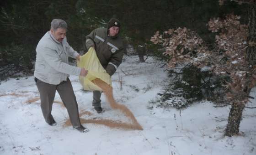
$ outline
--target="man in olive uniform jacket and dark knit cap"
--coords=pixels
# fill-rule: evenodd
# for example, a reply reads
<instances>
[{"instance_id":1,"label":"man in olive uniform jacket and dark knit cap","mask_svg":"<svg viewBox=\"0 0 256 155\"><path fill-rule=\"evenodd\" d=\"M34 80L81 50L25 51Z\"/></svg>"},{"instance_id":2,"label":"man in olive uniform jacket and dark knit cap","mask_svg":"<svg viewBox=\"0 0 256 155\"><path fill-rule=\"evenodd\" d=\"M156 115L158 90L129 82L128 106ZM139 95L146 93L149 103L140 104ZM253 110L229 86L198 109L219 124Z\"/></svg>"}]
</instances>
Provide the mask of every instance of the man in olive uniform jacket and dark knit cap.
<instances>
[{"instance_id":1,"label":"man in olive uniform jacket and dark knit cap","mask_svg":"<svg viewBox=\"0 0 256 155\"><path fill-rule=\"evenodd\" d=\"M97 28L86 36L86 47L94 47L102 67L112 76L123 59L123 40L118 36L120 32L120 21L110 19L106 28ZM92 105L97 113L102 112L101 92L93 91Z\"/></svg>"}]
</instances>

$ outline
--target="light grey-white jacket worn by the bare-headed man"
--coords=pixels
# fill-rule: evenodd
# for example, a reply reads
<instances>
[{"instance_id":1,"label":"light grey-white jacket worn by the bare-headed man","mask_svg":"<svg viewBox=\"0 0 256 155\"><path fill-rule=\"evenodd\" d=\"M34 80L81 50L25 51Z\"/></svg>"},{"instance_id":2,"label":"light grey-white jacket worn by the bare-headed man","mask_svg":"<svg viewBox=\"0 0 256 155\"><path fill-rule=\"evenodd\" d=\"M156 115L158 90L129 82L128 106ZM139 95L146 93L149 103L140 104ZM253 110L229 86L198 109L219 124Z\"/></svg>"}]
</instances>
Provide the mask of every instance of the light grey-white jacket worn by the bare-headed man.
<instances>
[{"instance_id":1,"label":"light grey-white jacket worn by the bare-headed man","mask_svg":"<svg viewBox=\"0 0 256 155\"><path fill-rule=\"evenodd\" d=\"M79 54L69 46L65 37L57 41L48 31L38 42L34 76L49 84L66 81L70 75L80 75L81 68L69 65L69 57L76 58Z\"/></svg>"}]
</instances>

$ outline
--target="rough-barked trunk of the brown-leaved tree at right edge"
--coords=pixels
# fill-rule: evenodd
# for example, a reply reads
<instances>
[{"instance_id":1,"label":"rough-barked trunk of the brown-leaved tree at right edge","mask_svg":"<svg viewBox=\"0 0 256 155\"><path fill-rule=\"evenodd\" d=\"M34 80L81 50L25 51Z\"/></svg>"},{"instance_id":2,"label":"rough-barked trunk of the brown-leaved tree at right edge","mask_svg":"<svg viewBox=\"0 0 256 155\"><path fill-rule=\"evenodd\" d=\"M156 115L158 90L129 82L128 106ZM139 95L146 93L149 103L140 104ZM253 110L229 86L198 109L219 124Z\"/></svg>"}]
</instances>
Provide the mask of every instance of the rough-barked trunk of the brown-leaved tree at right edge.
<instances>
[{"instance_id":1,"label":"rough-barked trunk of the brown-leaved tree at right edge","mask_svg":"<svg viewBox=\"0 0 256 155\"><path fill-rule=\"evenodd\" d=\"M247 74L247 82L245 83L244 92L249 96L251 92L251 76L253 75L253 68L256 65L256 3L252 2L249 6L249 36L248 43L254 42L246 49L246 59L249 62L250 69ZM242 119L242 113L245 108L244 103L233 103L229 112L228 124L225 129L226 136L232 136L239 134L239 125Z\"/></svg>"}]
</instances>

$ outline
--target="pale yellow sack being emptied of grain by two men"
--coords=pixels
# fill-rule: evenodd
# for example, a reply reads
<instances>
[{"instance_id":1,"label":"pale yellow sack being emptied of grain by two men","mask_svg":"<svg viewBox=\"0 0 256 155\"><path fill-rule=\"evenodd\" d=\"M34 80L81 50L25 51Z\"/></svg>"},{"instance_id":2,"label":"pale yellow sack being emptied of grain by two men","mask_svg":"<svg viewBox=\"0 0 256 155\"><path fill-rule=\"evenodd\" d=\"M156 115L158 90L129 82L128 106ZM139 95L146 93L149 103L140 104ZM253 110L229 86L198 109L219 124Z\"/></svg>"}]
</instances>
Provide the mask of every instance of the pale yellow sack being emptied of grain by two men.
<instances>
[{"instance_id":1,"label":"pale yellow sack being emptied of grain by two men","mask_svg":"<svg viewBox=\"0 0 256 155\"><path fill-rule=\"evenodd\" d=\"M80 61L77 61L78 67L83 67L88 70L86 77L79 76L80 83L82 84L84 90L99 90L102 91L92 80L99 78L105 83L112 86L112 81L110 75L101 66L101 63L96 55L95 49L90 47L89 51L85 55L80 57Z\"/></svg>"}]
</instances>

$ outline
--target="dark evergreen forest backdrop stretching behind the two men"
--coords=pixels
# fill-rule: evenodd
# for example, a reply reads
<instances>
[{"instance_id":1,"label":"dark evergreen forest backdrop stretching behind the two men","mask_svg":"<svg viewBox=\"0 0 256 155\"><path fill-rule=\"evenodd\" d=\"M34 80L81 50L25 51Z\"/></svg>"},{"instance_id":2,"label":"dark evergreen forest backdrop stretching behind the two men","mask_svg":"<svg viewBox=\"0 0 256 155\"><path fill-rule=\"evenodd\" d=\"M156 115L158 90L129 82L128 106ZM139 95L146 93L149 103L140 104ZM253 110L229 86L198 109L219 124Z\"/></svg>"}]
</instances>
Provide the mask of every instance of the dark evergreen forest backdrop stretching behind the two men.
<instances>
[{"instance_id":1,"label":"dark evergreen forest backdrop stretching behind the two men","mask_svg":"<svg viewBox=\"0 0 256 155\"><path fill-rule=\"evenodd\" d=\"M67 21L69 44L80 52L87 50L86 35L116 17L122 22L120 35L129 38L128 44L136 49L146 43L146 54L154 53L166 59L161 51L148 44L155 31L187 27L211 44L214 37L209 35L207 22L230 10L245 14L245 9L237 4L219 7L217 0L3 0L0 2L0 49L1 54L7 51L17 56L24 54L25 65L32 68L36 45L50 29L53 18ZM7 54L1 58L3 65L11 65L16 60Z\"/></svg>"}]
</instances>

